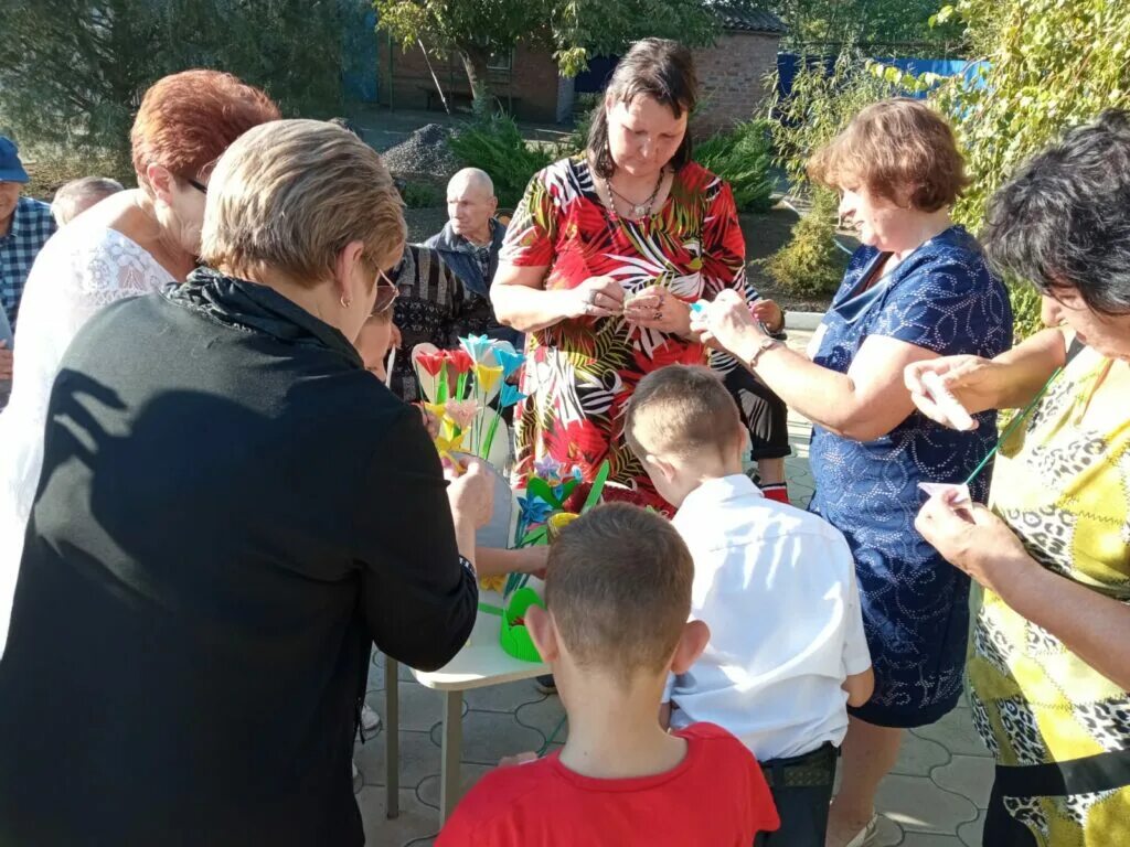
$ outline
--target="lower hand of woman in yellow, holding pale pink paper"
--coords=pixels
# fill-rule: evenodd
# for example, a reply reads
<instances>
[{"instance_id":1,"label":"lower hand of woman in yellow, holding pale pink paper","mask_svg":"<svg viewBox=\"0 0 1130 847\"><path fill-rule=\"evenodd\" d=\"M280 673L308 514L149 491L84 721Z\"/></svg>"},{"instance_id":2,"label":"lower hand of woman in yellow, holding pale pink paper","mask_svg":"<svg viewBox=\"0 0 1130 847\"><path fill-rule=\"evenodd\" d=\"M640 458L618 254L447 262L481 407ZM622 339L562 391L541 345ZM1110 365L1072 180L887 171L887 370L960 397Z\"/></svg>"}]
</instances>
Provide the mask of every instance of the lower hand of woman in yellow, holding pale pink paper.
<instances>
[{"instance_id":1,"label":"lower hand of woman in yellow, holding pale pink paper","mask_svg":"<svg viewBox=\"0 0 1130 847\"><path fill-rule=\"evenodd\" d=\"M1035 562L1003 521L981 504L953 504L953 492L935 495L914 521L951 565L989 591L1002 594Z\"/></svg>"}]
</instances>

